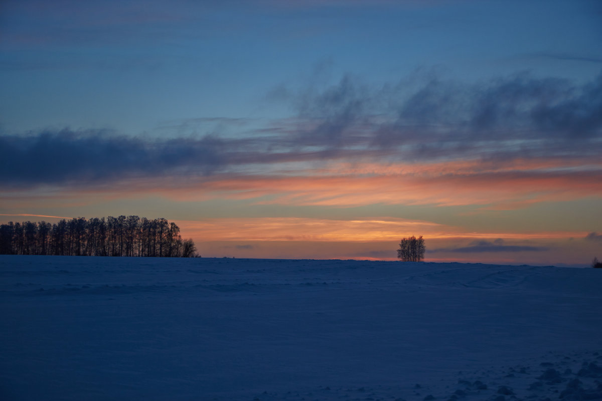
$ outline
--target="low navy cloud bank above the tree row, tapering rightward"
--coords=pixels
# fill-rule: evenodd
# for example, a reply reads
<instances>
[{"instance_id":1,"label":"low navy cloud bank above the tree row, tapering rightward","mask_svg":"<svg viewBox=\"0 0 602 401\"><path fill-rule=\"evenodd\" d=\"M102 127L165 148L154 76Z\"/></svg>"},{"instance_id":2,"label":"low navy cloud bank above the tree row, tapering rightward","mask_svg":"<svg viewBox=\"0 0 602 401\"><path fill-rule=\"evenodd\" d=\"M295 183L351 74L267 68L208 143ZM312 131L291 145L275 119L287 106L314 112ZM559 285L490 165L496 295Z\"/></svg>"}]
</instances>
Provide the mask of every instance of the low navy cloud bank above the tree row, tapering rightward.
<instances>
[{"instance_id":1,"label":"low navy cloud bank above the tree row, tapering rightward","mask_svg":"<svg viewBox=\"0 0 602 401\"><path fill-rule=\"evenodd\" d=\"M179 130L178 127L174 128ZM247 172L249 164L375 157L374 150L298 150L285 139L214 135L171 139L132 138L108 130L44 130L0 135L0 184L92 185L132 177L208 176Z\"/></svg>"}]
</instances>

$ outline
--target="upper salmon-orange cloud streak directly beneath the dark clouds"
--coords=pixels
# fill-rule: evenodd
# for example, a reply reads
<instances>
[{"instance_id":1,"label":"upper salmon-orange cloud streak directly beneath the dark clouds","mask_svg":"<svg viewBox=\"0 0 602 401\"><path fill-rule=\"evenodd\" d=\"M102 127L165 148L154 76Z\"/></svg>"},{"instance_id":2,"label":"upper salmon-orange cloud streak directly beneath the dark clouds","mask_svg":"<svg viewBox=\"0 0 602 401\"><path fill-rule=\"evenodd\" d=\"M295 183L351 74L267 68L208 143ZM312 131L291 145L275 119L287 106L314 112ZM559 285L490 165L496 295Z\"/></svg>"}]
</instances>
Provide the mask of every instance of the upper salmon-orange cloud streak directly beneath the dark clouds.
<instances>
[{"instance_id":1,"label":"upper salmon-orange cloud streak directly beneath the dark clouds","mask_svg":"<svg viewBox=\"0 0 602 401\"><path fill-rule=\"evenodd\" d=\"M216 198L255 204L353 207L368 204L492 205L514 209L544 201L602 196L602 173L387 174L320 176L220 176L164 182L165 189L134 184L132 195L155 193L178 201ZM138 183L140 185L140 183ZM123 195L123 194L120 194Z\"/></svg>"}]
</instances>

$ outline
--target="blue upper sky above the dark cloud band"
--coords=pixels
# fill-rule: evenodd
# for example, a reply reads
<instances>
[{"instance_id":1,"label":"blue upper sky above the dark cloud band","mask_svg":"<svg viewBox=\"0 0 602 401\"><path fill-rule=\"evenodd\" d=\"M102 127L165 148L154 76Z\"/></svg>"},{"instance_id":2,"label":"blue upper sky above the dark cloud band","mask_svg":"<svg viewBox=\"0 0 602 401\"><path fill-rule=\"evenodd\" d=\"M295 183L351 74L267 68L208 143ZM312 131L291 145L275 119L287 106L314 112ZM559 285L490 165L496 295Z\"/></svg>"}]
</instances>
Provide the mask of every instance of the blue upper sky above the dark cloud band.
<instances>
[{"instance_id":1,"label":"blue upper sky above the dark cloud band","mask_svg":"<svg viewBox=\"0 0 602 401\"><path fill-rule=\"evenodd\" d=\"M290 3L290 4L288 4ZM5 2L2 123L127 135L196 117L272 118L270 88L351 73L474 82L600 72L600 5L528 2ZM32 112L35 109L36 112Z\"/></svg>"}]
</instances>

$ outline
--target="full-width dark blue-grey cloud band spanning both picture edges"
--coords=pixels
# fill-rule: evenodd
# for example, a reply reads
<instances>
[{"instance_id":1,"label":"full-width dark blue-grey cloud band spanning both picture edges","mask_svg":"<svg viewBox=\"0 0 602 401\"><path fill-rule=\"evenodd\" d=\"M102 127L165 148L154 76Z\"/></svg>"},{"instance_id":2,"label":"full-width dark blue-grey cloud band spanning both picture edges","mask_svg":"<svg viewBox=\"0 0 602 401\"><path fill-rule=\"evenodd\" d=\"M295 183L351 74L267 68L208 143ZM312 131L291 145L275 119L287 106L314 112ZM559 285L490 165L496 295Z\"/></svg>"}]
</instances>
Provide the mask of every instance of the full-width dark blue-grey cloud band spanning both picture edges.
<instances>
[{"instance_id":1,"label":"full-width dark blue-grey cloud band spanning both picture edges","mask_svg":"<svg viewBox=\"0 0 602 401\"><path fill-rule=\"evenodd\" d=\"M517 159L539 159L561 170L569 161L569 173L600 173L602 75L580 86L520 74L479 85L430 78L379 88L346 76L326 88L280 92L295 118L253 129L237 121L241 132L223 138L184 138L178 124L173 133L162 132L170 139L70 129L0 135L0 183L87 185L335 160L470 159L511 166Z\"/></svg>"}]
</instances>

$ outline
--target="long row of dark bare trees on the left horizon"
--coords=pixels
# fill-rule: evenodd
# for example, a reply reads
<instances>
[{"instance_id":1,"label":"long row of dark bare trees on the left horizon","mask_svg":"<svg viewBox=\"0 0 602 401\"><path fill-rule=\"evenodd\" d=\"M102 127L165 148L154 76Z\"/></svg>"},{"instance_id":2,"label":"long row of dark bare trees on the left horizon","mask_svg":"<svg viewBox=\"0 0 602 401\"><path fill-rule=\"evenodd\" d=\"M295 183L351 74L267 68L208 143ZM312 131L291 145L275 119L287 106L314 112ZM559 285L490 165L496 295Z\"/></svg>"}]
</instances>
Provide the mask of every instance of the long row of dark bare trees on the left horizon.
<instances>
[{"instance_id":1,"label":"long row of dark bare trees on the left horizon","mask_svg":"<svg viewBox=\"0 0 602 401\"><path fill-rule=\"evenodd\" d=\"M164 218L108 216L0 225L0 254L63 256L192 257L192 239Z\"/></svg>"}]
</instances>

